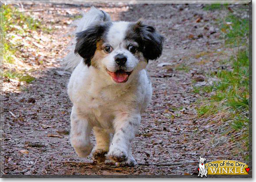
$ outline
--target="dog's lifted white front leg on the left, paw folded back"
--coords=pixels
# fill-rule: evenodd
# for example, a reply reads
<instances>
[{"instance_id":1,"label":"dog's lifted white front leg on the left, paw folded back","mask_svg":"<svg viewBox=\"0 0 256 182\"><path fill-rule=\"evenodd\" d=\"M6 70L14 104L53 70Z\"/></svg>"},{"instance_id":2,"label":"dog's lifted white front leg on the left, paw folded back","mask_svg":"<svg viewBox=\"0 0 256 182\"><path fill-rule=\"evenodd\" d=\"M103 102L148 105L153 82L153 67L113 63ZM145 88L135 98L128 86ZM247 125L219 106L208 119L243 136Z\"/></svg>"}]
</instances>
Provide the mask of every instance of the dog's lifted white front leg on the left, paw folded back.
<instances>
[{"instance_id":1,"label":"dog's lifted white front leg on the left, paw folded back","mask_svg":"<svg viewBox=\"0 0 256 182\"><path fill-rule=\"evenodd\" d=\"M87 157L92 150L90 134L92 127L88 120L78 118L76 109L72 107L71 112L70 142L79 157Z\"/></svg>"}]
</instances>

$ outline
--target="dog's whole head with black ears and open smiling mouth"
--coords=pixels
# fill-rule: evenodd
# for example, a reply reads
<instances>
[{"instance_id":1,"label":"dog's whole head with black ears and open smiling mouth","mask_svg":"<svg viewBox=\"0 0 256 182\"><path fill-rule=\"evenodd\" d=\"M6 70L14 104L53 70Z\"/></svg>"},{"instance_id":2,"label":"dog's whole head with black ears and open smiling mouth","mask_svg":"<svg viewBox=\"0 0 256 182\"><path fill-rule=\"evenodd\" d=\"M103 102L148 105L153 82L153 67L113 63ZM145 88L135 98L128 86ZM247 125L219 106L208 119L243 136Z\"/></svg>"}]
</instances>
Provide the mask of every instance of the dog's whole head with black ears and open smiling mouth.
<instances>
[{"instance_id":1,"label":"dog's whole head with black ears and open smiling mouth","mask_svg":"<svg viewBox=\"0 0 256 182\"><path fill-rule=\"evenodd\" d=\"M115 83L126 82L162 53L163 36L140 21L105 22L77 34L75 53Z\"/></svg>"}]
</instances>

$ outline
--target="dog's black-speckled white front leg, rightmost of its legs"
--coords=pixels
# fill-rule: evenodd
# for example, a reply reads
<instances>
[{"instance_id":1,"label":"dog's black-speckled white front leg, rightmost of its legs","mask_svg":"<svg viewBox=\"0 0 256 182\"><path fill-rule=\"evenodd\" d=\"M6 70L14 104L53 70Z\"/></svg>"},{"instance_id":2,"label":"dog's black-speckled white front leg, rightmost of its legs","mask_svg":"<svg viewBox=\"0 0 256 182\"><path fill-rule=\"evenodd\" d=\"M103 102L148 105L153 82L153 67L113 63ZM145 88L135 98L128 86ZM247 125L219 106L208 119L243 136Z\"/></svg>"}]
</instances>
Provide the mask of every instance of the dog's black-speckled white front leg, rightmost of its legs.
<instances>
[{"instance_id":1,"label":"dog's black-speckled white front leg, rightmost of its legs","mask_svg":"<svg viewBox=\"0 0 256 182\"><path fill-rule=\"evenodd\" d=\"M113 121L114 136L109 147L108 158L129 166L136 163L132 157L130 143L132 142L135 132L141 121L139 114L120 114Z\"/></svg>"}]
</instances>

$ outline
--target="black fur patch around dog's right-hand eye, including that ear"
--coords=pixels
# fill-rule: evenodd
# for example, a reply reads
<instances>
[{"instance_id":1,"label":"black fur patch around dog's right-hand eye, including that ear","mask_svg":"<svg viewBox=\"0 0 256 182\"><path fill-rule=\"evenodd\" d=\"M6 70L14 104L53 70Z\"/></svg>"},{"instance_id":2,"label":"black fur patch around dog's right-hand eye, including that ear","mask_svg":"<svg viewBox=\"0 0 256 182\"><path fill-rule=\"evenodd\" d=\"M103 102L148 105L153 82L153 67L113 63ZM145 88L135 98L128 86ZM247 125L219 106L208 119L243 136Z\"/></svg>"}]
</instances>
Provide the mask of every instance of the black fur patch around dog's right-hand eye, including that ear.
<instances>
[{"instance_id":1,"label":"black fur patch around dog's right-hand eye, including that ear","mask_svg":"<svg viewBox=\"0 0 256 182\"><path fill-rule=\"evenodd\" d=\"M154 60L160 57L163 50L163 36L154 27L144 25L140 21L130 25L126 33L127 40L134 40L139 44L139 51L144 58Z\"/></svg>"}]
</instances>

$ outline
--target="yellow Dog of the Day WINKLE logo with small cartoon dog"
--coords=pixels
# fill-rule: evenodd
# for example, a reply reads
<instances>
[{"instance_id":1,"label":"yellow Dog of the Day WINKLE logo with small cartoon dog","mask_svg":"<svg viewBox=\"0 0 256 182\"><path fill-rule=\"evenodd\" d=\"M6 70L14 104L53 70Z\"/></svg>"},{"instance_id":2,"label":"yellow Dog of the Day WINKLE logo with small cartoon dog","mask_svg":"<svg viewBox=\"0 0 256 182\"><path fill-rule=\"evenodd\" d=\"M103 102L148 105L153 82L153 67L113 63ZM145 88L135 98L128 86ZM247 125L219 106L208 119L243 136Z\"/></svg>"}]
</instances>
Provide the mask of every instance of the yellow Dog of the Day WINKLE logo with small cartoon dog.
<instances>
[{"instance_id":1,"label":"yellow Dog of the Day WINKLE logo with small cartoon dog","mask_svg":"<svg viewBox=\"0 0 256 182\"><path fill-rule=\"evenodd\" d=\"M207 175L248 175L250 168L243 162L234 160L217 160L204 164L206 158L200 157L198 177Z\"/></svg>"}]
</instances>

